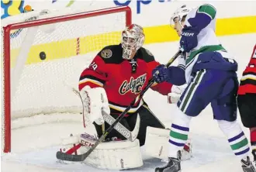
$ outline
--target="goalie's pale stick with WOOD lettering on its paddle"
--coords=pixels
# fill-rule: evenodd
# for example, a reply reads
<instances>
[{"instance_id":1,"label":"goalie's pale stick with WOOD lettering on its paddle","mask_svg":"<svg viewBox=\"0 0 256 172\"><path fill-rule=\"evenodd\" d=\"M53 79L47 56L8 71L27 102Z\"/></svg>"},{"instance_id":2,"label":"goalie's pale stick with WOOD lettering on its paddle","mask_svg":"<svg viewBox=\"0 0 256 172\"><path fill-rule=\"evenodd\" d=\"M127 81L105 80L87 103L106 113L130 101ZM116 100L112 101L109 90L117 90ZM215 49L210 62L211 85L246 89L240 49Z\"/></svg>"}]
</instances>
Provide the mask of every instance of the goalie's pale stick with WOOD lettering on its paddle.
<instances>
[{"instance_id":1,"label":"goalie's pale stick with WOOD lettering on its paddle","mask_svg":"<svg viewBox=\"0 0 256 172\"><path fill-rule=\"evenodd\" d=\"M72 91L74 92L74 94L78 95L78 97L81 99L81 95L80 95L80 93L79 93L79 91L77 89L71 87L70 85L68 85L65 82L64 82L64 85L66 85L68 88L71 88ZM81 103L83 104L83 101L81 101ZM84 108L84 105L83 105L83 108ZM83 110L83 113L84 112L85 111ZM114 123L115 120L116 120L111 115L106 113L105 111L102 111L102 116L103 116L104 121L107 122L109 124L109 126L111 126L112 123ZM85 118L84 114L83 114L83 117ZM84 122L85 122L85 119L84 119ZM117 122L117 124L114 127L114 129L116 129L116 131L119 132L126 139L129 139L131 142L133 142L135 139L137 139L137 136L138 136L138 133L139 133L139 130L140 130L140 115L137 115L137 121L136 121L136 124L134 126L133 131L130 131L129 129L126 129L126 127L123 126L120 122Z\"/></svg>"}]
</instances>

